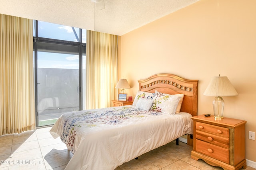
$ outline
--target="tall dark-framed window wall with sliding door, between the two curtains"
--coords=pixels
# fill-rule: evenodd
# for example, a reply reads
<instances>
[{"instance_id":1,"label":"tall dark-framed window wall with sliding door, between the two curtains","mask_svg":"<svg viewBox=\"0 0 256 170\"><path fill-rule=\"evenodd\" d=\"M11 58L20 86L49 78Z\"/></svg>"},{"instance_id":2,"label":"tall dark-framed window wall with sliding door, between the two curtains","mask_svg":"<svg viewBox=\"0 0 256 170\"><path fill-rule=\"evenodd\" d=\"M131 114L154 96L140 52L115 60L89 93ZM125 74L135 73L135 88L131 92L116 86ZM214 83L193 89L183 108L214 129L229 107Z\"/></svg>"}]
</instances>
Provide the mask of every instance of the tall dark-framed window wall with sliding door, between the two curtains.
<instances>
[{"instance_id":1,"label":"tall dark-framed window wall with sliding door, between the two curtains","mask_svg":"<svg viewBox=\"0 0 256 170\"><path fill-rule=\"evenodd\" d=\"M86 29L33 22L36 123L84 109Z\"/></svg>"}]
</instances>

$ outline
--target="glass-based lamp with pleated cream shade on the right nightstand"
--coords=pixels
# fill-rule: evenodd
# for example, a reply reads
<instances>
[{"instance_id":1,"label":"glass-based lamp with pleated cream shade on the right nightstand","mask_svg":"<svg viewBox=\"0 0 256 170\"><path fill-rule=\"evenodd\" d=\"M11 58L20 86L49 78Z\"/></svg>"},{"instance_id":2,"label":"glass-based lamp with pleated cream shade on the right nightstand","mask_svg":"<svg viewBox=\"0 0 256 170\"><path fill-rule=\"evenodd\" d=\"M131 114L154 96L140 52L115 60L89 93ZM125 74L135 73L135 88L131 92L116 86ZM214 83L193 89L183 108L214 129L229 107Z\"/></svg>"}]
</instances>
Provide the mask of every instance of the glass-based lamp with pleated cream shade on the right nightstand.
<instances>
[{"instance_id":1,"label":"glass-based lamp with pleated cream shade on the right nightstand","mask_svg":"<svg viewBox=\"0 0 256 170\"><path fill-rule=\"evenodd\" d=\"M204 95L217 96L212 102L214 119L223 119L224 100L220 96L236 96L238 93L228 80L228 77L218 76L212 78L204 92Z\"/></svg>"}]
</instances>

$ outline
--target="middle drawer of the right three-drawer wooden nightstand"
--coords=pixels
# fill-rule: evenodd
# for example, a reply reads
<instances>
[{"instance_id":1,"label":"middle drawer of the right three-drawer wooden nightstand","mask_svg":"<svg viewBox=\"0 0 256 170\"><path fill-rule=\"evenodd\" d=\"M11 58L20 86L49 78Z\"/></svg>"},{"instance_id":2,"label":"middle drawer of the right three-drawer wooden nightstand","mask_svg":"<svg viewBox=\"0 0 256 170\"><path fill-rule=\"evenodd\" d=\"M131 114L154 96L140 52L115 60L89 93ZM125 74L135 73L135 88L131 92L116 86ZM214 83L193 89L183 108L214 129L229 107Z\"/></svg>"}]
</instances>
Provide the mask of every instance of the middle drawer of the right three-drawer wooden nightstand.
<instances>
[{"instance_id":1,"label":"middle drawer of the right three-drawer wooden nightstand","mask_svg":"<svg viewBox=\"0 0 256 170\"><path fill-rule=\"evenodd\" d=\"M206 141L208 143L218 145L220 147L229 148L229 138L213 135L211 133L206 133L204 131L196 130L196 139Z\"/></svg>"}]
</instances>

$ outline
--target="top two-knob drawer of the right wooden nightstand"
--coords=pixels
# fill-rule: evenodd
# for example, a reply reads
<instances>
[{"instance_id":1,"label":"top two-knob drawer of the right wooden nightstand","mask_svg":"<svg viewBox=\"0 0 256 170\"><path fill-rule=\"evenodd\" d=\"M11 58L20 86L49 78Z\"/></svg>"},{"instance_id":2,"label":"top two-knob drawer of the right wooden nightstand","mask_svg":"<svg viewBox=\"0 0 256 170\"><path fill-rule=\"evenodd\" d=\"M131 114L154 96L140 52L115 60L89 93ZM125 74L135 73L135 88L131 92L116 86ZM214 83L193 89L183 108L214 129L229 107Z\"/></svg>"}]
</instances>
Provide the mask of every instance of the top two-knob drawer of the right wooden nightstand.
<instances>
[{"instance_id":1,"label":"top two-knob drawer of the right wooden nightstand","mask_svg":"<svg viewBox=\"0 0 256 170\"><path fill-rule=\"evenodd\" d=\"M229 129L225 127L219 127L206 123L196 122L196 130L213 133L223 137L229 137Z\"/></svg>"}]
</instances>

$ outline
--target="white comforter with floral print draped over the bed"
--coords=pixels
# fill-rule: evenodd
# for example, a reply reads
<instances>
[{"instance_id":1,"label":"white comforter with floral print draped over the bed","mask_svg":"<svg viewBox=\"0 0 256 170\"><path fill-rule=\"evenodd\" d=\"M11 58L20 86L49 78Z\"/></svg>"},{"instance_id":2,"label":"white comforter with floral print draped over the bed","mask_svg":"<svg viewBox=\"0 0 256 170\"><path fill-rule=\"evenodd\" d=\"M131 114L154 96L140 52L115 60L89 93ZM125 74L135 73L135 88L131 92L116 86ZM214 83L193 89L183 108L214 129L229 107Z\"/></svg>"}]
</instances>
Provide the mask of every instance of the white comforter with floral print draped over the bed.
<instances>
[{"instance_id":1,"label":"white comforter with floral print draped over the bed","mask_svg":"<svg viewBox=\"0 0 256 170\"><path fill-rule=\"evenodd\" d=\"M150 150L192 134L189 113L163 114L134 106L65 113L50 133L74 154L66 170L113 170Z\"/></svg>"}]
</instances>

